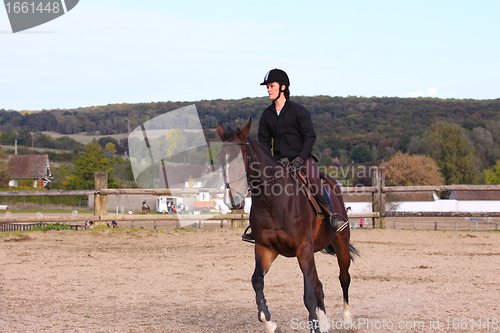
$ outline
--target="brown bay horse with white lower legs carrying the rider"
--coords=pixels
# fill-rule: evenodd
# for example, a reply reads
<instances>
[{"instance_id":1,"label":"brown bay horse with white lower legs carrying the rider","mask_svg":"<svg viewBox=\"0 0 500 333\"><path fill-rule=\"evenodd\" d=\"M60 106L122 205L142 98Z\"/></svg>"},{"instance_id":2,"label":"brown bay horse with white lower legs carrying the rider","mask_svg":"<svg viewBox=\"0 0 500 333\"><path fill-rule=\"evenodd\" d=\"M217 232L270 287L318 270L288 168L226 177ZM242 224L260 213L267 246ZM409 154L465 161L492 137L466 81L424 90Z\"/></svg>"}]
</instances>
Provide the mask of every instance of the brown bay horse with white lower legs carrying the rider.
<instances>
[{"instance_id":1,"label":"brown bay horse with white lower legs carrying the rider","mask_svg":"<svg viewBox=\"0 0 500 333\"><path fill-rule=\"evenodd\" d=\"M304 276L304 304L309 312L311 332L326 332L330 327L325 314L323 287L318 279L314 253L323 250L336 254L344 297L344 322L351 319L348 289L351 256L357 250L349 244L350 230L336 234L326 219L317 222L317 213L307 195L298 189L290 170L276 162L266 149L249 137L252 119L240 131L226 130L219 123L223 141L220 154L226 183L225 202L241 208L247 193L252 194L250 226L255 236L255 270L252 285L256 294L258 319L266 332L281 332L271 321L264 298L264 275L281 254L297 257ZM239 162L239 163L238 163ZM339 219L347 221L340 188L331 177L322 174L325 188Z\"/></svg>"}]
</instances>

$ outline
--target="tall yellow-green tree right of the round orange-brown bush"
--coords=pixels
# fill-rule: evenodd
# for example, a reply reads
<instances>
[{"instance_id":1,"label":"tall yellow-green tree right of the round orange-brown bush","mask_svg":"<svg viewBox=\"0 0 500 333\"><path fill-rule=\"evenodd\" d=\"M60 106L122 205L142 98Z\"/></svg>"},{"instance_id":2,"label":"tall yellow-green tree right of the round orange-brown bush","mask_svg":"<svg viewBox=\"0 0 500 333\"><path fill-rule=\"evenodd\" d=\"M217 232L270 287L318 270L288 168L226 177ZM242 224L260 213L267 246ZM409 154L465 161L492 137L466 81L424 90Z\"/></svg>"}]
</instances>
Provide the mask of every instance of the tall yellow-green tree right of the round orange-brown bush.
<instances>
[{"instance_id":1,"label":"tall yellow-green tree right of the round orange-brown bush","mask_svg":"<svg viewBox=\"0 0 500 333\"><path fill-rule=\"evenodd\" d=\"M436 147L433 157L445 184L474 184L477 176L472 162L473 150L462 128L455 124L438 125L431 137Z\"/></svg>"}]
</instances>

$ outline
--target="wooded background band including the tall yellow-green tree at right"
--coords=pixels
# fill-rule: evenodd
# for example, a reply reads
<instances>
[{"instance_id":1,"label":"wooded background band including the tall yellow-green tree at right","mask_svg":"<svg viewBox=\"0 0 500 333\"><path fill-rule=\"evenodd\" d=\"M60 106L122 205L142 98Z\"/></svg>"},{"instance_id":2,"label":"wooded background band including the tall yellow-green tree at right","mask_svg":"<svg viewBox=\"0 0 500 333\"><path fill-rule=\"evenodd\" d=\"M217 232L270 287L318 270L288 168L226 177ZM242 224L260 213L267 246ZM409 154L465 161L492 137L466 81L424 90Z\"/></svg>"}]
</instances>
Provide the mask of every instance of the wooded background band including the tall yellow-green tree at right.
<instances>
[{"instance_id":1,"label":"wooded background band including the tall yellow-green tree at right","mask_svg":"<svg viewBox=\"0 0 500 333\"><path fill-rule=\"evenodd\" d=\"M422 155L436 163L447 184L485 183L492 179L491 172L500 160L500 99L292 96L292 100L311 112L317 132L314 153L323 166L378 165L398 153ZM127 133L149 119L190 104L196 105L206 139L211 140L216 133L209 129L216 128L219 121L234 128L252 117L257 124L269 100L110 104L30 113L2 109L0 143L12 144L15 135L30 146L31 133L35 132L40 138L35 146L67 147L58 149L78 154L83 145L69 138L51 141L41 132ZM257 127L251 131L254 137ZM128 149L127 140L112 143L117 150Z\"/></svg>"}]
</instances>

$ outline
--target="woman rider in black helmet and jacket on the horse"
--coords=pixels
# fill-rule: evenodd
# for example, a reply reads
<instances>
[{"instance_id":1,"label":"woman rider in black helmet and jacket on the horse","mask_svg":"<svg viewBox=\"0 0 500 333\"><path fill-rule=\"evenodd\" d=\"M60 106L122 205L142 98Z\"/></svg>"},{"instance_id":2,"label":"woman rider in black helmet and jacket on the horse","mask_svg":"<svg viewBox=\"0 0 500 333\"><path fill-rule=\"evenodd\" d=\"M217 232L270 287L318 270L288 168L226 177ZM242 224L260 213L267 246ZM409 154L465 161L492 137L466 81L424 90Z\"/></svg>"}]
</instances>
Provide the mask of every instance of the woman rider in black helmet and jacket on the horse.
<instances>
[{"instance_id":1,"label":"woman rider in black helmet and jacket on the horse","mask_svg":"<svg viewBox=\"0 0 500 333\"><path fill-rule=\"evenodd\" d=\"M267 72L261 86L267 87L269 99L273 103L268 106L260 118L259 142L272 151L276 160L290 162L294 170L305 169L311 182L311 190L316 198L333 212L328 192L323 189L319 178L318 166L312 156L316 133L311 121L311 114L305 107L290 100L290 80L281 69ZM342 231L348 222L339 221L330 216L330 224L335 232ZM253 241L251 233L243 234L243 240Z\"/></svg>"}]
</instances>

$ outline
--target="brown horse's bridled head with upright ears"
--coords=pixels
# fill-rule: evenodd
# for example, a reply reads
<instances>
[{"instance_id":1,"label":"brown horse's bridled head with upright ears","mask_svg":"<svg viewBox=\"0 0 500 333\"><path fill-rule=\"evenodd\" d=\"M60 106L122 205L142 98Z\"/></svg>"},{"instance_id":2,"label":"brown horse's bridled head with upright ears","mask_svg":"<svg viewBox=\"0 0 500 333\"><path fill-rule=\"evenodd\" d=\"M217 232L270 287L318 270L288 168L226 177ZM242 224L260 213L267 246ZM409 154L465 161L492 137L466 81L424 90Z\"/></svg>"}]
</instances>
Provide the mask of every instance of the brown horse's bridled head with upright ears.
<instances>
[{"instance_id":1,"label":"brown horse's bridled head with upright ears","mask_svg":"<svg viewBox=\"0 0 500 333\"><path fill-rule=\"evenodd\" d=\"M248 192L248 135L251 126L252 118L241 130L226 130L221 123L217 127L217 133L222 140L219 160L226 187L224 203L232 209L243 209L245 206L245 197Z\"/></svg>"}]
</instances>

